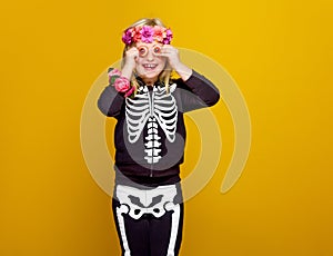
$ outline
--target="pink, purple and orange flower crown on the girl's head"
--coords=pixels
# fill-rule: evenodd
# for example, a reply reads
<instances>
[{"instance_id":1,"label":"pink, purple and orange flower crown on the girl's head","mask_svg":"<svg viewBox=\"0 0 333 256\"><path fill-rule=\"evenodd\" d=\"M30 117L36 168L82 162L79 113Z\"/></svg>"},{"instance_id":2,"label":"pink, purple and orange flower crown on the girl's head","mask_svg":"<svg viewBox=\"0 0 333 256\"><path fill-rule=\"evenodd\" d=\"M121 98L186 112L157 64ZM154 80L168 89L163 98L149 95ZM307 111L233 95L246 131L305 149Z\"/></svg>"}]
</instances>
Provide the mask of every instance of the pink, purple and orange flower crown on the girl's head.
<instances>
[{"instance_id":1,"label":"pink, purple and orange flower crown on the girl's head","mask_svg":"<svg viewBox=\"0 0 333 256\"><path fill-rule=\"evenodd\" d=\"M122 41L130 46L133 42L161 42L163 45L170 45L173 35L170 29L161 26L137 26L127 29L122 35Z\"/></svg>"}]
</instances>

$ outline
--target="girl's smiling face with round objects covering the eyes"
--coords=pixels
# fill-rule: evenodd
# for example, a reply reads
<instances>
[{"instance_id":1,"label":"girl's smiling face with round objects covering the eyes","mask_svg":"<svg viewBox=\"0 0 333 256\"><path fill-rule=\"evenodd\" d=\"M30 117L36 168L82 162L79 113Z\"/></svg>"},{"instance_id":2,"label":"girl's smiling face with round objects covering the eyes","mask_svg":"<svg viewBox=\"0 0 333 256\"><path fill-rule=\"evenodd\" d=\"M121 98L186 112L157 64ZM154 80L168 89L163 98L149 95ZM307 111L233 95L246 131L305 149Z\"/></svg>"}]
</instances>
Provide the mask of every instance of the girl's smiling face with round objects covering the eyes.
<instances>
[{"instance_id":1,"label":"girl's smiling face with round objects covering the eyes","mask_svg":"<svg viewBox=\"0 0 333 256\"><path fill-rule=\"evenodd\" d=\"M161 43L152 42L138 42L137 49L139 57L137 59L137 73L145 82L155 82L159 75L164 70L167 58L160 57L159 53L162 49Z\"/></svg>"}]
</instances>

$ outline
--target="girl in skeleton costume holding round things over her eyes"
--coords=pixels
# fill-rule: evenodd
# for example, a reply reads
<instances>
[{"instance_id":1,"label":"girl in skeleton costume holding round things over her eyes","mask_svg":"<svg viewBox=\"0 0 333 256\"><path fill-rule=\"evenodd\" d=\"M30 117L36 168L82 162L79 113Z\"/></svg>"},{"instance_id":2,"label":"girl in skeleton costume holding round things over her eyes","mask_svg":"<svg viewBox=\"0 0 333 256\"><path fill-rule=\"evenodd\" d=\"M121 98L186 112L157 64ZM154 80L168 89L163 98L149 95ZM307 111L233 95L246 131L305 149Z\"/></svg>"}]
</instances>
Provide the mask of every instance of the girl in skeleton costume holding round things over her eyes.
<instances>
[{"instance_id":1,"label":"girl in skeleton costume holding round things over her eyes","mask_svg":"<svg viewBox=\"0 0 333 256\"><path fill-rule=\"evenodd\" d=\"M159 19L130 26L122 36L121 70L109 69L109 86L98 100L99 109L118 120L112 210L125 256L179 254L183 114L220 98L211 81L180 60L172 37Z\"/></svg>"}]
</instances>

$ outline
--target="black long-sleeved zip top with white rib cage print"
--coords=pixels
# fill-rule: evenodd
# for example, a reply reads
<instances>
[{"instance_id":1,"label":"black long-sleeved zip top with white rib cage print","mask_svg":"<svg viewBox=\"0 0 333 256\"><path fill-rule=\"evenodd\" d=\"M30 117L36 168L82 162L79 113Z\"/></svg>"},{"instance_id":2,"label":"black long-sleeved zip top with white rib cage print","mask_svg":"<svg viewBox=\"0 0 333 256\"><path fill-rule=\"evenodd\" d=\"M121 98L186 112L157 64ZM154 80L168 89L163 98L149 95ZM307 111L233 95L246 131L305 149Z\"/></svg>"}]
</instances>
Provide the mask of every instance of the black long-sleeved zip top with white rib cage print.
<instances>
[{"instance_id":1,"label":"black long-sleeved zip top with white rib cage print","mask_svg":"<svg viewBox=\"0 0 333 256\"><path fill-rule=\"evenodd\" d=\"M169 92L162 82L152 87L138 81L134 98L109 85L98 100L102 114L118 120L115 168L125 176L178 176L186 139L183 114L213 106L219 90L194 70L186 81L170 81Z\"/></svg>"}]
</instances>

